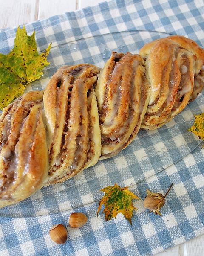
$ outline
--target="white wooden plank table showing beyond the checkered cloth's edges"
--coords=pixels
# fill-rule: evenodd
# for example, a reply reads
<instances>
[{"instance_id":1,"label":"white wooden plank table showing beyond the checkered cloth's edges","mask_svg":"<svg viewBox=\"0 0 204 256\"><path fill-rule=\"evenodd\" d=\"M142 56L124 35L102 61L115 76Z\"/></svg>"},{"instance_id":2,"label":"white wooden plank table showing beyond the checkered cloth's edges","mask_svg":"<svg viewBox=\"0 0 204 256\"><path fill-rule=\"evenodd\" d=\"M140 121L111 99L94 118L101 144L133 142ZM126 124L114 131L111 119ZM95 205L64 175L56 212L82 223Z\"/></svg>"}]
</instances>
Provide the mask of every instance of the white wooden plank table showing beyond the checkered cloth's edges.
<instances>
[{"instance_id":1,"label":"white wooden plank table showing beyond the checkered cloth's edges","mask_svg":"<svg viewBox=\"0 0 204 256\"><path fill-rule=\"evenodd\" d=\"M0 0L0 29L96 5L103 0ZM157 256L204 256L204 235Z\"/></svg>"}]
</instances>

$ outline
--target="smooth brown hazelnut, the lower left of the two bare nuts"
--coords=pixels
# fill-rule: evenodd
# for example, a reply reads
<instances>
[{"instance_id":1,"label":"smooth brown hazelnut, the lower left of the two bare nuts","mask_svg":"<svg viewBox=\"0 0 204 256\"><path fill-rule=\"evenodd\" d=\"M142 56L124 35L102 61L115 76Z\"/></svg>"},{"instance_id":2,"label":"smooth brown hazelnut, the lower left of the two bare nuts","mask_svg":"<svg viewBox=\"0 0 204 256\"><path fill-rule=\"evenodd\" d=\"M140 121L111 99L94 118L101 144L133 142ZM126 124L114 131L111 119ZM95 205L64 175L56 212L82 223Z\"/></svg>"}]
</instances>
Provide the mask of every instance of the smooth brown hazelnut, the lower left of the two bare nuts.
<instances>
[{"instance_id":1,"label":"smooth brown hazelnut, the lower left of the two bare nuts","mask_svg":"<svg viewBox=\"0 0 204 256\"><path fill-rule=\"evenodd\" d=\"M62 224L57 224L50 229L51 239L57 244L64 244L67 241L67 230Z\"/></svg>"}]
</instances>

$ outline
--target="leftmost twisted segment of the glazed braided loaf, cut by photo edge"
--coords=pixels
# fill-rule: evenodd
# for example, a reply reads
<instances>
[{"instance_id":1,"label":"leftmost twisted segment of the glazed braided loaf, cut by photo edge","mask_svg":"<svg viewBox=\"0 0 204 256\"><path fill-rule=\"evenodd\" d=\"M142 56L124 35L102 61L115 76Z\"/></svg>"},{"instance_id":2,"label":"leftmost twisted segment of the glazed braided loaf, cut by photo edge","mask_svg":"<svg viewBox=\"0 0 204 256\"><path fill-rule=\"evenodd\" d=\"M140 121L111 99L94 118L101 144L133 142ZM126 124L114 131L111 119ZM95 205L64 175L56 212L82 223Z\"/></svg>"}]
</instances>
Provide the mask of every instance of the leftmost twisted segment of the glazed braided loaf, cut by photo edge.
<instances>
[{"instance_id":1,"label":"leftmost twisted segment of the glazed braided loaf, cut by photo edge","mask_svg":"<svg viewBox=\"0 0 204 256\"><path fill-rule=\"evenodd\" d=\"M28 198L48 179L43 91L20 96L0 117L0 208Z\"/></svg>"}]
</instances>

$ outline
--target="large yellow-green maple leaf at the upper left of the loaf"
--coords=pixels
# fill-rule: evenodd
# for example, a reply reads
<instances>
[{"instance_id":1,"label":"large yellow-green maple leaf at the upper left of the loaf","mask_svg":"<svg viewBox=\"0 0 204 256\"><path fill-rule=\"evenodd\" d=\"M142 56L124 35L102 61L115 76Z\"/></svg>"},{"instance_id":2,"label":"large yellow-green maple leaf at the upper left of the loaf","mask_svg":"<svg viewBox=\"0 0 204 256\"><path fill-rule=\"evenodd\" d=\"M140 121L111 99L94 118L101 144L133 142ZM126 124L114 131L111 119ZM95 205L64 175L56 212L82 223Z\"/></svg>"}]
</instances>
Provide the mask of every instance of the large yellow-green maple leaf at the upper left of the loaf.
<instances>
[{"instance_id":1,"label":"large yellow-green maple leaf at the upper left of the loaf","mask_svg":"<svg viewBox=\"0 0 204 256\"><path fill-rule=\"evenodd\" d=\"M0 53L0 108L23 94L28 83L40 78L48 66L47 56L51 44L40 55L37 52L35 32L27 35L26 27L17 28L14 48L4 55Z\"/></svg>"}]
</instances>

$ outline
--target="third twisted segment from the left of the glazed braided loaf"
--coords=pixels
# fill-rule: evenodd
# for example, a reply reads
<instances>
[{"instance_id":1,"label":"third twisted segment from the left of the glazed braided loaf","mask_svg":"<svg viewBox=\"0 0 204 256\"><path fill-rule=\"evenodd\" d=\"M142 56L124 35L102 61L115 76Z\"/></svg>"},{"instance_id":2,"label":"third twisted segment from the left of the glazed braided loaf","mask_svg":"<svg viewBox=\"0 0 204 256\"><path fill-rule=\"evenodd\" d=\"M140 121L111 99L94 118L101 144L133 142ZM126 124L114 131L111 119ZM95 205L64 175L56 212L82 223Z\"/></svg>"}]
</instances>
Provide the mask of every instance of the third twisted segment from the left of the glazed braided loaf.
<instances>
[{"instance_id":1,"label":"third twisted segment from the left of the glazed braided loaf","mask_svg":"<svg viewBox=\"0 0 204 256\"><path fill-rule=\"evenodd\" d=\"M138 133L149 102L144 61L113 52L96 86L102 136L101 159L113 157Z\"/></svg>"}]
</instances>

